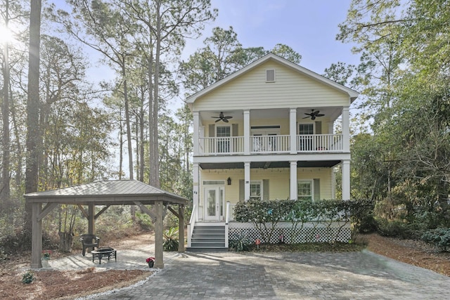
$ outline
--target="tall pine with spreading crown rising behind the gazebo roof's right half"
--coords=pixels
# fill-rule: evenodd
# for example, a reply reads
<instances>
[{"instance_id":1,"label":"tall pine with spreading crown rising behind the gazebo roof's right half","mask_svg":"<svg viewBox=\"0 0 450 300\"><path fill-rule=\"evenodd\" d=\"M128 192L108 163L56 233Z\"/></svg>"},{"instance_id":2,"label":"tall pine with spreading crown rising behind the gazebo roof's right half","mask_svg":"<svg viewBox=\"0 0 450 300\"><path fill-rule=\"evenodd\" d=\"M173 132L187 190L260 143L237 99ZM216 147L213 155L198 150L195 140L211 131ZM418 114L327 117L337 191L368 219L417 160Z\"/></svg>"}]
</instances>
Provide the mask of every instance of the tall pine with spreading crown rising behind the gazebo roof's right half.
<instances>
[{"instance_id":1,"label":"tall pine with spreading crown rising behind the gazebo roof's right half","mask_svg":"<svg viewBox=\"0 0 450 300\"><path fill-rule=\"evenodd\" d=\"M149 182L159 187L158 112L160 101L160 71L162 59L178 53L186 37L197 37L203 23L213 20L217 11L210 11L210 0L188 1L120 1L135 20L142 22L146 32L149 93ZM164 52L163 52L164 51Z\"/></svg>"}]
</instances>

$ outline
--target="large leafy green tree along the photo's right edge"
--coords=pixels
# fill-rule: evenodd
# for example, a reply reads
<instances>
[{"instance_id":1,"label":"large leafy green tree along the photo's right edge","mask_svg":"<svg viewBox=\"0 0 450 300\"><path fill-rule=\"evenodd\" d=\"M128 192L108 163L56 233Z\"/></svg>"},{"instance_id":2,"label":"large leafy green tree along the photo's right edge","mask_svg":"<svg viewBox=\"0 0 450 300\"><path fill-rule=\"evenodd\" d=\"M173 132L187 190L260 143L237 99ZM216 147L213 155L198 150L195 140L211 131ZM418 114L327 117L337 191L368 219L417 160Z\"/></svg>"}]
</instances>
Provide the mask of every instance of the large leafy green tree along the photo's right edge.
<instances>
[{"instance_id":1,"label":"large leafy green tree along the photo's right edge","mask_svg":"<svg viewBox=\"0 0 450 300\"><path fill-rule=\"evenodd\" d=\"M373 178L386 187L387 195L379 193L391 213L401 205L411 221L420 207L439 203L434 226L445 226L449 216L449 18L445 0L354 0L338 34L361 53L357 80L374 121L361 157L383 157L385 167ZM366 168L354 166L359 173Z\"/></svg>"}]
</instances>

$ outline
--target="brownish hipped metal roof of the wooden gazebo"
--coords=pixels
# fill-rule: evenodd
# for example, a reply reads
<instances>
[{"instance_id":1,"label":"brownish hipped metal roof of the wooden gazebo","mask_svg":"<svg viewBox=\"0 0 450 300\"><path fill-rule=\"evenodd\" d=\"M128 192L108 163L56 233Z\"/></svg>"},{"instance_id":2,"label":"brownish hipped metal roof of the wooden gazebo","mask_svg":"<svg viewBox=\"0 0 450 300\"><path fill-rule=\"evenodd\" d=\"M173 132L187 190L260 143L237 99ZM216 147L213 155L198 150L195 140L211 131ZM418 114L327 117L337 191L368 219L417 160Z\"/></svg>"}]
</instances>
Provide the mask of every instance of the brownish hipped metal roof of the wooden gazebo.
<instances>
[{"instance_id":1,"label":"brownish hipped metal roof of the wooden gazebo","mask_svg":"<svg viewBox=\"0 0 450 300\"><path fill-rule=\"evenodd\" d=\"M134 201L164 202L186 204L188 200L165 190L155 188L136 180L96 181L60 188L25 194L27 202L63 202L81 204L91 202L94 204L134 204ZM120 202L120 203L117 203ZM131 203L125 203L131 202ZM144 203L145 204L145 203ZM152 203L148 203L152 204Z\"/></svg>"}]
</instances>

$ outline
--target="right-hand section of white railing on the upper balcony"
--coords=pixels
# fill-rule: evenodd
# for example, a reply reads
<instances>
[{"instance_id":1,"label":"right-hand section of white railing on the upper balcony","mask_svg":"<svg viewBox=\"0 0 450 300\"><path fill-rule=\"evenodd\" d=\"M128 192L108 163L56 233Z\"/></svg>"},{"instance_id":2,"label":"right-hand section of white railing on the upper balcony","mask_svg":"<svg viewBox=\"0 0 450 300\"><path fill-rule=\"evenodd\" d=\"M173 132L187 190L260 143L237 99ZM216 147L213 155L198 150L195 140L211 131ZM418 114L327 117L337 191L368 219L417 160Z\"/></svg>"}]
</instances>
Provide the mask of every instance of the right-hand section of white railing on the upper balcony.
<instances>
[{"instance_id":1,"label":"right-hand section of white railing on the upper balcony","mask_svg":"<svg viewBox=\"0 0 450 300\"><path fill-rule=\"evenodd\" d=\"M298 152L342 151L342 134L300 134L297 136Z\"/></svg>"}]
</instances>

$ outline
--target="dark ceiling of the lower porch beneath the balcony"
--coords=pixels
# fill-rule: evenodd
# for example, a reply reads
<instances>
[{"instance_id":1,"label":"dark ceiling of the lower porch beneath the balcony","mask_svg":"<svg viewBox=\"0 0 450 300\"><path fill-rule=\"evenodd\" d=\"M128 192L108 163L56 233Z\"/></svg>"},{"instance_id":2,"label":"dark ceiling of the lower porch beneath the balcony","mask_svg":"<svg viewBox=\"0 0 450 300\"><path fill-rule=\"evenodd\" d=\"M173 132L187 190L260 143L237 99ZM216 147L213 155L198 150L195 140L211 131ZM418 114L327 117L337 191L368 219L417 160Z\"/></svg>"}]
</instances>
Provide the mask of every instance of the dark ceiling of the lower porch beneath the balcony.
<instances>
[{"instance_id":1,"label":"dark ceiling of the lower porch beneath the balcony","mask_svg":"<svg viewBox=\"0 0 450 300\"><path fill-rule=\"evenodd\" d=\"M297 161L297 168L330 168L340 164L340 160ZM204 170L244 169L243 162L200 163ZM250 169L289 168L290 162L250 162Z\"/></svg>"}]
</instances>

